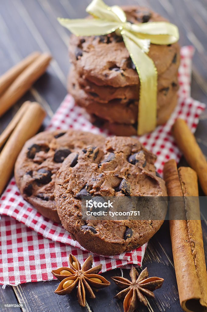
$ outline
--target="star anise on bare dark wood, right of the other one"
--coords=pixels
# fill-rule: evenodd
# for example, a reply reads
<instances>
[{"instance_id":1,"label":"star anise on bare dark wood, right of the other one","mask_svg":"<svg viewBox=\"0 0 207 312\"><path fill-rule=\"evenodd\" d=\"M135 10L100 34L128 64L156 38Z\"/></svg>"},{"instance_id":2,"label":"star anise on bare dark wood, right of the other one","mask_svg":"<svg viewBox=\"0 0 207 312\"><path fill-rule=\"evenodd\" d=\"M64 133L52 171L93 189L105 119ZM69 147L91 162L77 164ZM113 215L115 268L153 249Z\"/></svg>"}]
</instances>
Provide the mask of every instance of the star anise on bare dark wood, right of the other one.
<instances>
[{"instance_id":1,"label":"star anise on bare dark wood, right of the other one","mask_svg":"<svg viewBox=\"0 0 207 312\"><path fill-rule=\"evenodd\" d=\"M124 298L123 307L124 312L133 312L140 302L142 305L147 305L147 300L144 296L154 298L152 291L160 288L163 283L163 278L148 277L147 268L145 268L139 275L134 266L130 270L131 280L124 277L114 276L112 280L118 285L121 290L114 298Z\"/></svg>"}]
</instances>

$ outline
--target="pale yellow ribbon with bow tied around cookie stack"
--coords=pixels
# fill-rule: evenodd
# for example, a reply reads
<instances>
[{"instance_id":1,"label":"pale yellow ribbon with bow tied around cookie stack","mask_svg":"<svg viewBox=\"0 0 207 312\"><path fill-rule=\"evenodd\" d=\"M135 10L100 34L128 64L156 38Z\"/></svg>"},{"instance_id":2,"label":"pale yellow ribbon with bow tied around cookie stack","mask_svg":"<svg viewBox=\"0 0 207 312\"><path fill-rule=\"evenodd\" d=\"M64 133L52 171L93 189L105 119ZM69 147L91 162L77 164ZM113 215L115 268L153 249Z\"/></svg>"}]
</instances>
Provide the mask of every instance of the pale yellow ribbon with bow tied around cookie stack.
<instances>
[{"instance_id":1,"label":"pale yellow ribbon with bow tied around cookie stack","mask_svg":"<svg viewBox=\"0 0 207 312\"><path fill-rule=\"evenodd\" d=\"M167 45L178 41L178 28L168 22L131 24L119 6L108 7L102 0L93 0L86 12L94 18L58 18L60 24L76 36L99 36L115 32L123 37L129 55L136 66L140 80L137 134L142 135L156 127L157 70L147 56L150 43Z\"/></svg>"}]
</instances>

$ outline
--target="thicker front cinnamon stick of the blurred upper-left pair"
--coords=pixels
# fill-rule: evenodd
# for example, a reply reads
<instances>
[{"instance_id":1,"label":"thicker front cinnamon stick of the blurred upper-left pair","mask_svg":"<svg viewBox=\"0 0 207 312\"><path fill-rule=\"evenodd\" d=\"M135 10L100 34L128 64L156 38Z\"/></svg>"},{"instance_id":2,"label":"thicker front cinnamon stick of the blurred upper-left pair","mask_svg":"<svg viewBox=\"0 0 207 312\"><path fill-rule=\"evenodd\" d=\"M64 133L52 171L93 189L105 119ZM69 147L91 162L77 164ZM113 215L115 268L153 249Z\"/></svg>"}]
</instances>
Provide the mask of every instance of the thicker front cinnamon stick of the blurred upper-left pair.
<instances>
[{"instance_id":1,"label":"thicker front cinnamon stick of the blurred upper-left pair","mask_svg":"<svg viewBox=\"0 0 207 312\"><path fill-rule=\"evenodd\" d=\"M44 74L51 59L52 57L48 53L40 55L14 80L0 97L0 116L14 105L31 88L33 83Z\"/></svg>"}]
</instances>

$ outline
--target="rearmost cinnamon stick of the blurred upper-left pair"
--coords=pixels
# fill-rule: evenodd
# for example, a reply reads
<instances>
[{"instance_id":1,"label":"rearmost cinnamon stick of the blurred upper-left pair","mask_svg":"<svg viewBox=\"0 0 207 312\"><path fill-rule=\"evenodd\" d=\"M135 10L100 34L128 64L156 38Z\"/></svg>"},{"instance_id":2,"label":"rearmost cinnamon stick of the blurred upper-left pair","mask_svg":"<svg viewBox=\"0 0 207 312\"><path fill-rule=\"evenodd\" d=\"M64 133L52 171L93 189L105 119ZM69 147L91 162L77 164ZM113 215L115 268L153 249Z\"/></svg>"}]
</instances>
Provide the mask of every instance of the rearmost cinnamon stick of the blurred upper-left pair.
<instances>
[{"instance_id":1,"label":"rearmost cinnamon stick of the blurred upper-left pair","mask_svg":"<svg viewBox=\"0 0 207 312\"><path fill-rule=\"evenodd\" d=\"M9 87L9 85L29 66L33 61L40 56L39 52L33 52L20 61L18 64L10 68L0 77L0 95Z\"/></svg>"}]
</instances>

